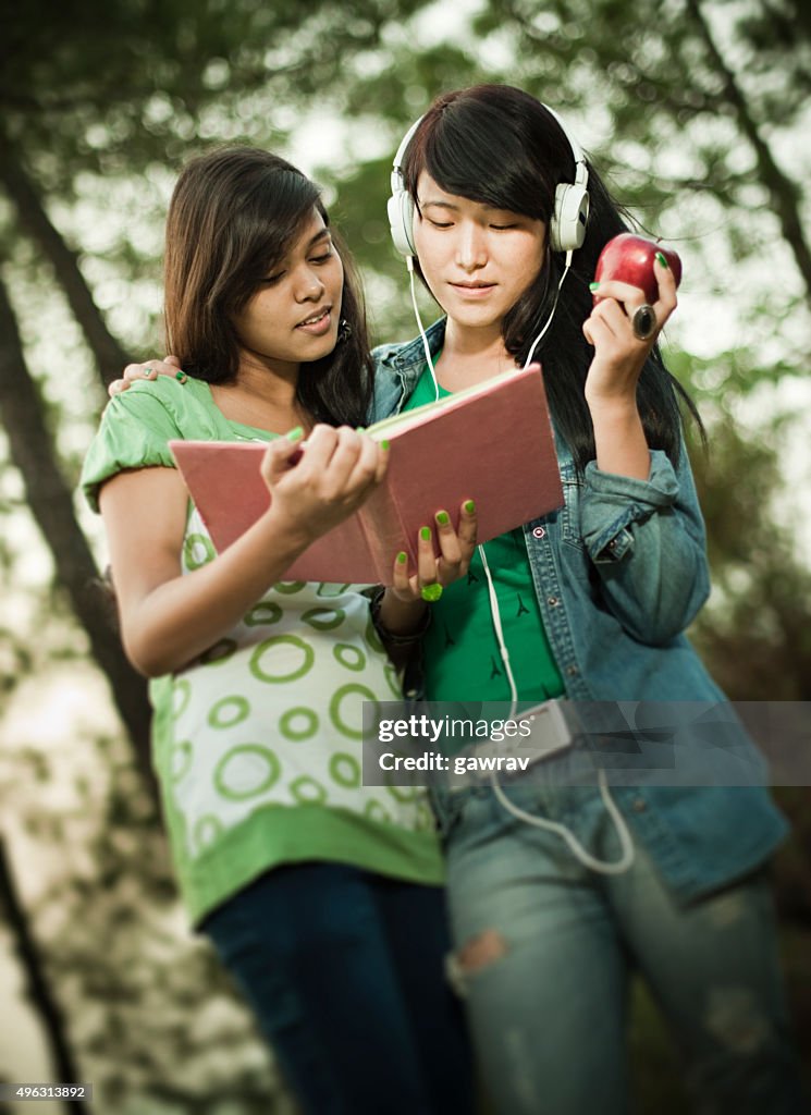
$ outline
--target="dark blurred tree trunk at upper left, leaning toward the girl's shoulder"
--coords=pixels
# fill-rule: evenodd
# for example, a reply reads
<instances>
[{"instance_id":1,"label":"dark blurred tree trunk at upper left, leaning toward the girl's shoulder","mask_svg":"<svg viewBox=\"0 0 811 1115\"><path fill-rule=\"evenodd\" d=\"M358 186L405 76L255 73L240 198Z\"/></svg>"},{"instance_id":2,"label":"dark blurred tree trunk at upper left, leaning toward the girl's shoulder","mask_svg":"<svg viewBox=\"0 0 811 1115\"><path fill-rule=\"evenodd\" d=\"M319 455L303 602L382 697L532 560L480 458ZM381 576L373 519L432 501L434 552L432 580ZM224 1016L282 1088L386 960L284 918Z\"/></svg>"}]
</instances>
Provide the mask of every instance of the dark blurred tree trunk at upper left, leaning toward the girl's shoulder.
<instances>
[{"instance_id":1,"label":"dark blurred tree trunk at upper left, leaning toward the girl's shoulder","mask_svg":"<svg viewBox=\"0 0 811 1115\"><path fill-rule=\"evenodd\" d=\"M127 355L108 330L94 301L92 293L79 270L77 253L68 248L61 233L51 224L33 182L2 135L0 135L0 182L17 209L20 224L38 245L42 255L52 263L57 282L81 327L106 386L120 376L121 369L129 362Z\"/></svg>"}]
</instances>

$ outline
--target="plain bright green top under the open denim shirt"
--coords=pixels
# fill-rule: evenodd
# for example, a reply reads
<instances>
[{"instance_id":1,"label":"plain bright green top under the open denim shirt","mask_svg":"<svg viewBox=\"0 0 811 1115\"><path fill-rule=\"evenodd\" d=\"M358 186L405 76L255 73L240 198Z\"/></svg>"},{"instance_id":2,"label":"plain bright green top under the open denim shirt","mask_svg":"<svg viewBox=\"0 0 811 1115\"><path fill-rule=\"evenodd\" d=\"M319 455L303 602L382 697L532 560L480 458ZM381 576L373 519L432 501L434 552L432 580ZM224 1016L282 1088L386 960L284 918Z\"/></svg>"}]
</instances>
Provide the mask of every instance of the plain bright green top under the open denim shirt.
<instances>
[{"instance_id":1,"label":"plain bright green top under the open denim shirt","mask_svg":"<svg viewBox=\"0 0 811 1115\"><path fill-rule=\"evenodd\" d=\"M441 396L450 394L440 388ZM433 380L426 365L403 409L411 410L433 399ZM470 495L476 500L476 492ZM492 539L483 550L519 700L535 704L559 697L564 692L563 678L538 608L521 529ZM448 585L431 609L431 626L422 644L426 697L433 701L509 702L509 682L494 631L487 576L478 550L467 576Z\"/></svg>"}]
</instances>

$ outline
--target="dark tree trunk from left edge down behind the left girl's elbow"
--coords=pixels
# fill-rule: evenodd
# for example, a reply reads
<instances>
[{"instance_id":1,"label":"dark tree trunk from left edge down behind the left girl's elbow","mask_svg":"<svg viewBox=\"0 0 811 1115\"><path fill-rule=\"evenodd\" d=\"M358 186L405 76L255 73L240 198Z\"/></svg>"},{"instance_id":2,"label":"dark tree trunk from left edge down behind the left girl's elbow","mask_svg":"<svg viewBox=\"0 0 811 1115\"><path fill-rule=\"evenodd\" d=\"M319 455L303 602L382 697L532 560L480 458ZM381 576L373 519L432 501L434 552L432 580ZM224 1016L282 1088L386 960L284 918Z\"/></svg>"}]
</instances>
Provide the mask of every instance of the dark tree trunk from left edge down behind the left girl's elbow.
<instances>
[{"instance_id":1,"label":"dark tree trunk from left edge down behind the left girl's elbow","mask_svg":"<svg viewBox=\"0 0 811 1115\"><path fill-rule=\"evenodd\" d=\"M61 584L87 631L90 649L110 683L113 699L135 748L136 763L157 802L149 757L146 685L127 661L110 621L106 591L74 514L71 493L53 457L39 391L30 377L17 319L0 282L0 419L11 459L22 475L28 503L42 532Z\"/></svg>"}]
</instances>

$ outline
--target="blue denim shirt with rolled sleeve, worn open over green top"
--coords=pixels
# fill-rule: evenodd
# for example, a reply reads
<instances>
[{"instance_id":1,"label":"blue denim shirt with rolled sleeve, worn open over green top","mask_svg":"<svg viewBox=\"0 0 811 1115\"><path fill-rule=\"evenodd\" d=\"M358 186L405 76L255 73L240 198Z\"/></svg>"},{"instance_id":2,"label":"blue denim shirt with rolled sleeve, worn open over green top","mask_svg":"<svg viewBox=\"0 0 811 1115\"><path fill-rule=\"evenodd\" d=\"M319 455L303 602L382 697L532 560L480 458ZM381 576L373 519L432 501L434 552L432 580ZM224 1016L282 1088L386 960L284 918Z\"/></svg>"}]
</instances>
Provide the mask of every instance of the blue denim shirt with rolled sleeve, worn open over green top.
<instances>
[{"instance_id":1,"label":"blue denim shirt with rolled sleeve, worn open over green top","mask_svg":"<svg viewBox=\"0 0 811 1115\"><path fill-rule=\"evenodd\" d=\"M428 329L432 353L443 337L443 320ZM379 346L374 358L378 420L401 409L426 353L417 338ZM524 536L567 696L670 709L670 702L722 702L721 730L759 772L755 785L615 785L637 840L676 896L688 901L762 864L786 824L760 784L765 764L684 634L710 592L687 454L683 447L674 468L664 452L652 450L649 476L641 481L600 472L595 462L578 473L560 436L556 447L565 506L526 523Z\"/></svg>"}]
</instances>

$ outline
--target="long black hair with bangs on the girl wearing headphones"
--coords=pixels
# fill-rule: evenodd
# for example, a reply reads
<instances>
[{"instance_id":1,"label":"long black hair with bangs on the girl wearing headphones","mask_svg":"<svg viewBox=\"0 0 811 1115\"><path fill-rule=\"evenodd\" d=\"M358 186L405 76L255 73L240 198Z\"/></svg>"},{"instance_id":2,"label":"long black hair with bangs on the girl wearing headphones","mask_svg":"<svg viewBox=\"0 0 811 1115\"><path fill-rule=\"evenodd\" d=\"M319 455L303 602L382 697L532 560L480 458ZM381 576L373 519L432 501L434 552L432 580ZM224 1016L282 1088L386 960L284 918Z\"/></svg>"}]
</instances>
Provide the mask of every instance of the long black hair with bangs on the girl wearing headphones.
<instances>
[{"instance_id":1,"label":"long black hair with bangs on the girl wearing headphones","mask_svg":"<svg viewBox=\"0 0 811 1115\"><path fill-rule=\"evenodd\" d=\"M536 349L550 410L580 469L596 455L584 391L594 355L583 336L583 322L592 311L588 284L603 246L628 227L597 172L588 162L587 166L586 239L574 253L551 324ZM438 97L408 146L403 175L418 209L417 183L423 171L449 194L526 214L543 221L548 230L556 186L575 181L575 157L560 124L535 97L511 86L479 85ZM502 337L518 363L525 362L553 311L565 256L565 252L551 251L547 235L538 281L505 317ZM700 428L701 419L687 392L665 368L657 347L639 376L636 398L648 445L664 449L675 464L681 447L678 401Z\"/></svg>"}]
</instances>

